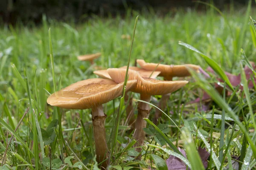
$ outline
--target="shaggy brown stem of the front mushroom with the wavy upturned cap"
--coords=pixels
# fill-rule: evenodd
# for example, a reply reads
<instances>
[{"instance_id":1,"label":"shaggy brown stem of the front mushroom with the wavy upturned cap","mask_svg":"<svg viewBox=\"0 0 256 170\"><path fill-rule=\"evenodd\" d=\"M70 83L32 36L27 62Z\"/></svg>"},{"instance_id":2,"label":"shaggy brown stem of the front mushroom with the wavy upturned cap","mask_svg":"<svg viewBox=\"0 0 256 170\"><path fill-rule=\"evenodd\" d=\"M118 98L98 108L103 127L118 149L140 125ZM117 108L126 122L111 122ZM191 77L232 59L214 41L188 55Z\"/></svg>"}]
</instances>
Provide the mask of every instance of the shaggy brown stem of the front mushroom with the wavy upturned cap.
<instances>
[{"instance_id":1,"label":"shaggy brown stem of the front mushroom with the wavy upturned cap","mask_svg":"<svg viewBox=\"0 0 256 170\"><path fill-rule=\"evenodd\" d=\"M140 99L145 102L150 102L151 96L147 94L140 94ZM137 143L134 145L135 150L141 152L142 146L144 144L144 139L146 133L144 132L143 128L146 127L147 122L143 118L148 118L149 112L151 108L147 103L139 102L138 104L138 116L135 123L135 132L134 132L134 139L137 140ZM141 155L137 157L138 160L141 159Z\"/></svg>"}]
</instances>

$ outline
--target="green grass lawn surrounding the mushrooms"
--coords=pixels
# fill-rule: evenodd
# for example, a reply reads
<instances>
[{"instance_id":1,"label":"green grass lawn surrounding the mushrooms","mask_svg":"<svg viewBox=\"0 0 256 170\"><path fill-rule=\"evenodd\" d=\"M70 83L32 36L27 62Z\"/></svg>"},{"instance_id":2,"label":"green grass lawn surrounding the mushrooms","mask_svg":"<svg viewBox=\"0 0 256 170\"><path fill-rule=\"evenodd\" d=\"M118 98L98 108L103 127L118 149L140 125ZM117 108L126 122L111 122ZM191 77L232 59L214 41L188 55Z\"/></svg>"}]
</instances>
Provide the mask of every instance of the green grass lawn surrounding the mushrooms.
<instances>
[{"instance_id":1,"label":"green grass lawn surrounding the mushrooms","mask_svg":"<svg viewBox=\"0 0 256 170\"><path fill-rule=\"evenodd\" d=\"M256 30L249 17L256 18L255 8L248 6L221 14L213 8L207 12L180 9L166 16L132 11L133 16L140 17L131 53L131 40L121 38L122 34L131 37L133 34L135 17L129 12L123 18L94 16L78 24L44 16L41 26L34 23L0 26L0 163L5 162L4 168L97 169L100 162L95 162L90 110L60 109L46 102L54 91L82 79L96 78L93 74L96 65L121 67L127 65L130 54L130 65L134 65L135 59L197 64L203 69L211 65L224 80L227 80L224 71L241 73L241 82L247 86L242 68L250 66L248 60L256 62ZM95 65L76 58L95 52L102 52ZM183 159L192 170L204 169L196 152L199 146L207 147L211 153L208 160L212 168L232 169L232 156L240 156L239 168L256 169L255 89L241 91L226 81L226 91L233 91L232 95L218 95L212 86L215 78L206 80L198 74L192 75L193 78L184 78L189 84L172 94L164 111L168 116L160 119L168 125L168 132L161 125L150 125L157 108L153 107L151 116L145 119L155 135L146 137L141 161L133 160L138 153L132 149L135 141L124 124L125 106L119 108L120 98L104 105L113 169L138 166L166 169L163 160L169 154ZM203 102L188 104L198 94L201 96L202 89L213 99L207 112L198 110ZM156 100L159 97L155 96ZM139 97L134 94L134 98ZM137 102L134 101L134 107ZM120 119L116 119L117 115ZM119 130L114 132L116 127ZM112 131L117 136L112 137ZM173 144L175 141L179 143ZM186 149L187 159L175 146Z\"/></svg>"}]
</instances>

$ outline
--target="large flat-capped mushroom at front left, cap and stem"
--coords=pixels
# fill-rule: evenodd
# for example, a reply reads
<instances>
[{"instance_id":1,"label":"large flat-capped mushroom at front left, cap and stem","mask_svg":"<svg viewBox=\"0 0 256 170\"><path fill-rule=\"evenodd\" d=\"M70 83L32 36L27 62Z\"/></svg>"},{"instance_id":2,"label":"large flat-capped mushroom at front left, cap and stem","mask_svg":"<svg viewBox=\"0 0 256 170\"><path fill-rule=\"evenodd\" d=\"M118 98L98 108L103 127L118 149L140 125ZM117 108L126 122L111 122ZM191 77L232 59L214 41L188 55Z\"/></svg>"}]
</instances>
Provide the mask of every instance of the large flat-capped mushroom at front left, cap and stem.
<instances>
[{"instance_id":1,"label":"large flat-capped mushroom at front left, cap and stem","mask_svg":"<svg viewBox=\"0 0 256 170\"><path fill-rule=\"evenodd\" d=\"M126 89L135 87L136 80L128 81ZM76 82L50 95L47 103L65 109L92 109L93 132L96 147L96 160L102 167L109 164L109 153L106 141L105 119L102 104L122 94L123 83L117 84L109 79L87 79Z\"/></svg>"}]
</instances>

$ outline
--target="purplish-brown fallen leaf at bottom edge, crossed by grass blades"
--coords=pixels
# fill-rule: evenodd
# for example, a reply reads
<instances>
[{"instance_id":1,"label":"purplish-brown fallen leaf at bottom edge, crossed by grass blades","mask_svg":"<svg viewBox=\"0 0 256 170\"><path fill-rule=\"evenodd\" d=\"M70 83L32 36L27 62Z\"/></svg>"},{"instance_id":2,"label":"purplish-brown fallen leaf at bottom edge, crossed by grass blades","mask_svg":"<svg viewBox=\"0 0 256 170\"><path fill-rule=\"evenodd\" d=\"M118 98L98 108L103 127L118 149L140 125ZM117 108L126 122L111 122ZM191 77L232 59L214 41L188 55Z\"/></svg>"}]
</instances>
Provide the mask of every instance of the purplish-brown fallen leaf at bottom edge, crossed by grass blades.
<instances>
[{"instance_id":1,"label":"purplish-brown fallen leaf at bottom edge, crossed by grass blades","mask_svg":"<svg viewBox=\"0 0 256 170\"><path fill-rule=\"evenodd\" d=\"M185 150L181 149L180 147L178 147L178 150L180 151L180 153L182 153L182 155L185 158L187 158ZM199 153L199 156L201 157L204 167L206 168L208 166L207 159L209 158L210 154L207 152L205 148L202 149L201 147L198 147L198 153ZM168 170L186 170L186 164L184 164L184 162L179 158L172 155L170 155L169 158L166 160L166 164L167 164Z\"/></svg>"}]
</instances>

